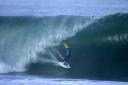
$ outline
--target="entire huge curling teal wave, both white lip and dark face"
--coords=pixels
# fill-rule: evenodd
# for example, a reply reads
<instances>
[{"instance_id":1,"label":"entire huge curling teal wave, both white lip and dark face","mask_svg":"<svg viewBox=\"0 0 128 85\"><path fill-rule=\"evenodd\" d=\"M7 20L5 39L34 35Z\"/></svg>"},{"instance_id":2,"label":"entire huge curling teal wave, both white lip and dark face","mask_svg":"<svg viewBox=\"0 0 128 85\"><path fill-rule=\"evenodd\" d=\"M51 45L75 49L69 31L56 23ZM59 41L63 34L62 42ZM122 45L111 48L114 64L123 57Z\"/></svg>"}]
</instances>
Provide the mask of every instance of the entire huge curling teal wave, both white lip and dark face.
<instances>
[{"instance_id":1,"label":"entire huge curling teal wave, both white lip and dark face","mask_svg":"<svg viewBox=\"0 0 128 85\"><path fill-rule=\"evenodd\" d=\"M127 13L100 18L0 17L0 65L8 68L1 69L27 70L35 75L127 78L127 23ZM66 38L71 47L70 70L54 65L65 55L61 41Z\"/></svg>"}]
</instances>

